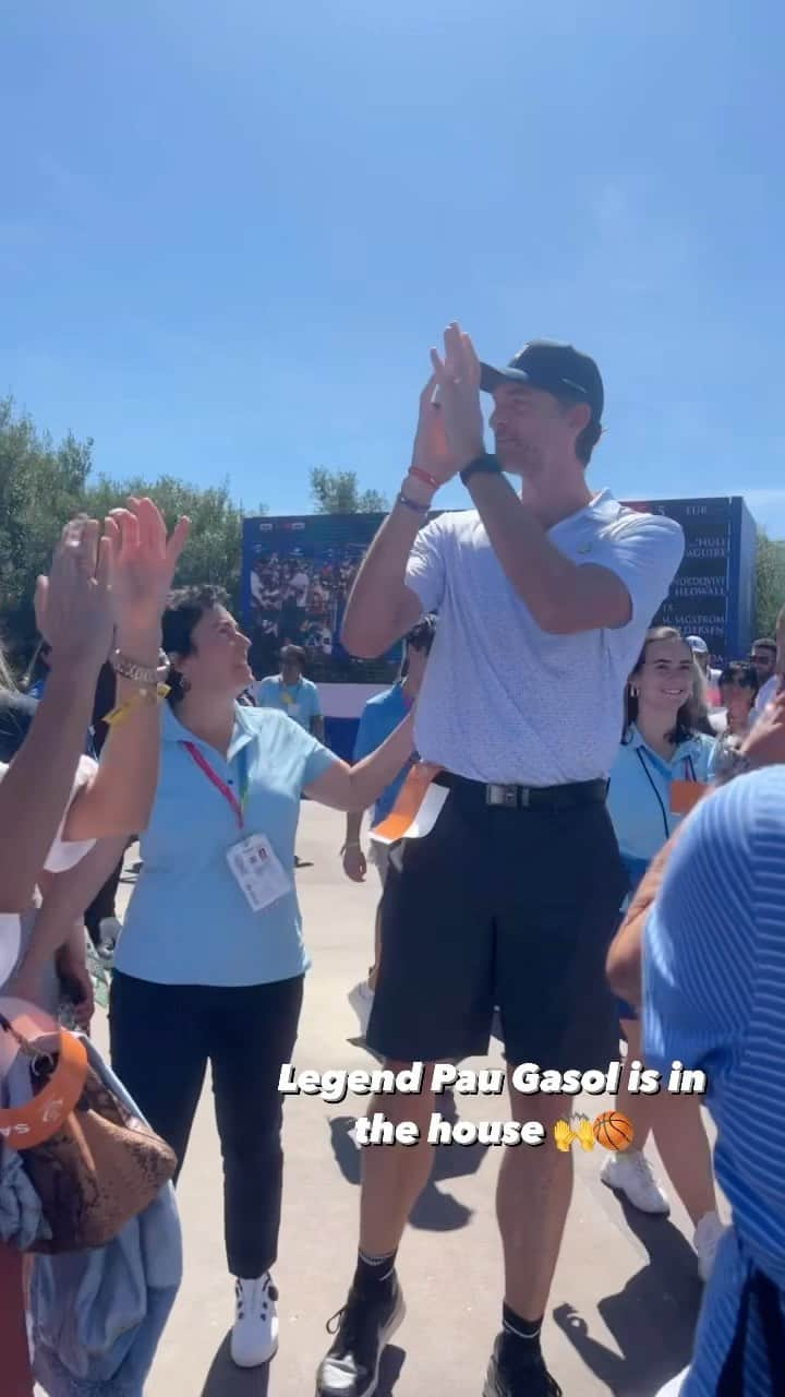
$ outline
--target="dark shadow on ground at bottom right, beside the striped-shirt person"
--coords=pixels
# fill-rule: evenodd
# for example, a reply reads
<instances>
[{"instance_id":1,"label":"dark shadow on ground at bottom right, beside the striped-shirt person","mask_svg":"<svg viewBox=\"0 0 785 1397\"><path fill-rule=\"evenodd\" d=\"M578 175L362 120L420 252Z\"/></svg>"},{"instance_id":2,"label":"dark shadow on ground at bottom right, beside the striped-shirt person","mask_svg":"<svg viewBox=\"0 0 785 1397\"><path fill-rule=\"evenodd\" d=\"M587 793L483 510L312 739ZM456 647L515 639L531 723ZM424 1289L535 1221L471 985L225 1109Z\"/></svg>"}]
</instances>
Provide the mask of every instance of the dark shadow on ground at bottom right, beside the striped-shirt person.
<instances>
[{"instance_id":1,"label":"dark shadow on ground at bottom right, beside the striped-shirt person","mask_svg":"<svg viewBox=\"0 0 785 1397\"><path fill-rule=\"evenodd\" d=\"M620 1354L591 1337L573 1305L560 1305L553 1319L613 1397L655 1397L690 1362L703 1285L696 1255L672 1222L626 1201L622 1208L648 1252L648 1264L596 1306Z\"/></svg>"}]
</instances>

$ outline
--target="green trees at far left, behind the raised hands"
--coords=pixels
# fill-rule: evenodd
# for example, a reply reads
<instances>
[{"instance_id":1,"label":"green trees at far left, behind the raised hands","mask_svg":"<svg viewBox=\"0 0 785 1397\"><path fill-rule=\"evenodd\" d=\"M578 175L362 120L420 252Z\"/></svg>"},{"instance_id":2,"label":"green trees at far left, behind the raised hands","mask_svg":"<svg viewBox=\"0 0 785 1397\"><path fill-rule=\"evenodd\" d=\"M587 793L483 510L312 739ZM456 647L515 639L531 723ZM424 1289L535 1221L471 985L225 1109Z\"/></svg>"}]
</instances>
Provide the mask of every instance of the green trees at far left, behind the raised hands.
<instances>
[{"instance_id":1,"label":"green trees at far left, behind the raised hands","mask_svg":"<svg viewBox=\"0 0 785 1397\"><path fill-rule=\"evenodd\" d=\"M200 489L173 475L94 476L91 439L68 434L56 446L10 398L0 400L0 610L17 657L32 647L35 580L47 570L63 524L80 513L105 518L129 495L149 495L170 527L180 514L190 517L176 581L219 584L239 608L243 510L226 482Z\"/></svg>"}]
</instances>

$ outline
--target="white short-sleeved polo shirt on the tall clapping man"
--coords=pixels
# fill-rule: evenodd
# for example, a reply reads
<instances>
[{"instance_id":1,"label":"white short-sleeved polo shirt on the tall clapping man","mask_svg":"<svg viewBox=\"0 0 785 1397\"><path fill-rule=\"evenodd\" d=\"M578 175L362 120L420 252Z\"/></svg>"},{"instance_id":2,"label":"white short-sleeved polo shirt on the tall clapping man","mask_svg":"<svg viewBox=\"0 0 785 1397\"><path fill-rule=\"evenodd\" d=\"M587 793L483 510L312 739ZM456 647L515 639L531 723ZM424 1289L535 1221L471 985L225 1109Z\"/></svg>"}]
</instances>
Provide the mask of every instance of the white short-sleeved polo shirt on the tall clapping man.
<instances>
[{"instance_id":1,"label":"white short-sleeved polo shirt on the tall clapping man","mask_svg":"<svg viewBox=\"0 0 785 1397\"><path fill-rule=\"evenodd\" d=\"M574 563L622 578L633 616L617 630L552 636L508 583L475 510L422 529L406 583L439 612L415 719L426 761L474 781L546 787L608 777L623 692L684 552L679 524L624 509L608 490L549 531Z\"/></svg>"}]
</instances>

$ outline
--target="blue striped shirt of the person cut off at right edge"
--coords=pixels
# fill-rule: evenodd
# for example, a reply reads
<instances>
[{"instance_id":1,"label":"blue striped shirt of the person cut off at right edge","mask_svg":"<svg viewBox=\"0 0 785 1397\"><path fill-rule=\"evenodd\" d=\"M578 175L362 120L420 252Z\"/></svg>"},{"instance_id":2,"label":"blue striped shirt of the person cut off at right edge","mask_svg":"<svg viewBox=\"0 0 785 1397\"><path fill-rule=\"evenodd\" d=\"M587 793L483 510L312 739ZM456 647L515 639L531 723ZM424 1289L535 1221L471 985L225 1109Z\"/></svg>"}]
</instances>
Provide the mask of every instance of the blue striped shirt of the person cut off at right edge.
<instances>
[{"instance_id":1,"label":"blue striped shirt of the person cut off at right edge","mask_svg":"<svg viewBox=\"0 0 785 1397\"><path fill-rule=\"evenodd\" d=\"M644 1055L708 1077L715 1171L733 1210L682 1397L714 1397L753 1266L785 1292L785 768L742 777L690 817L644 939ZM784 1310L785 1312L785 1310ZM775 1397L757 1308L744 1391Z\"/></svg>"}]
</instances>

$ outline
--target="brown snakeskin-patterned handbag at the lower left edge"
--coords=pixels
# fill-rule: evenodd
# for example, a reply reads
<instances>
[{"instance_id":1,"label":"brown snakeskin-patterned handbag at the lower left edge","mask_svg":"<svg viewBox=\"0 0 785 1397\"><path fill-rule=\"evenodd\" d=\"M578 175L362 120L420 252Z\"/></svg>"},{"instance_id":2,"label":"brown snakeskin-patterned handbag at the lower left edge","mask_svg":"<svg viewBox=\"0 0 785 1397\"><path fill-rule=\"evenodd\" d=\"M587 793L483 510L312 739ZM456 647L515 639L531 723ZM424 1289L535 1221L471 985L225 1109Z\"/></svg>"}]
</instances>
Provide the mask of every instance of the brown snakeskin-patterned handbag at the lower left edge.
<instances>
[{"instance_id":1,"label":"brown snakeskin-patterned handbag at the lower left edge","mask_svg":"<svg viewBox=\"0 0 785 1397\"><path fill-rule=\"evenodd\" d=\"M175 1176L175 1153L105 1085L75 1035L31 1042L3 1016L0 1027L31 1059L32 1099L0 1111L0 1133L22 1151L52 1229L31 1250L105 1246Z\"/></svg>"}]
</instances>

